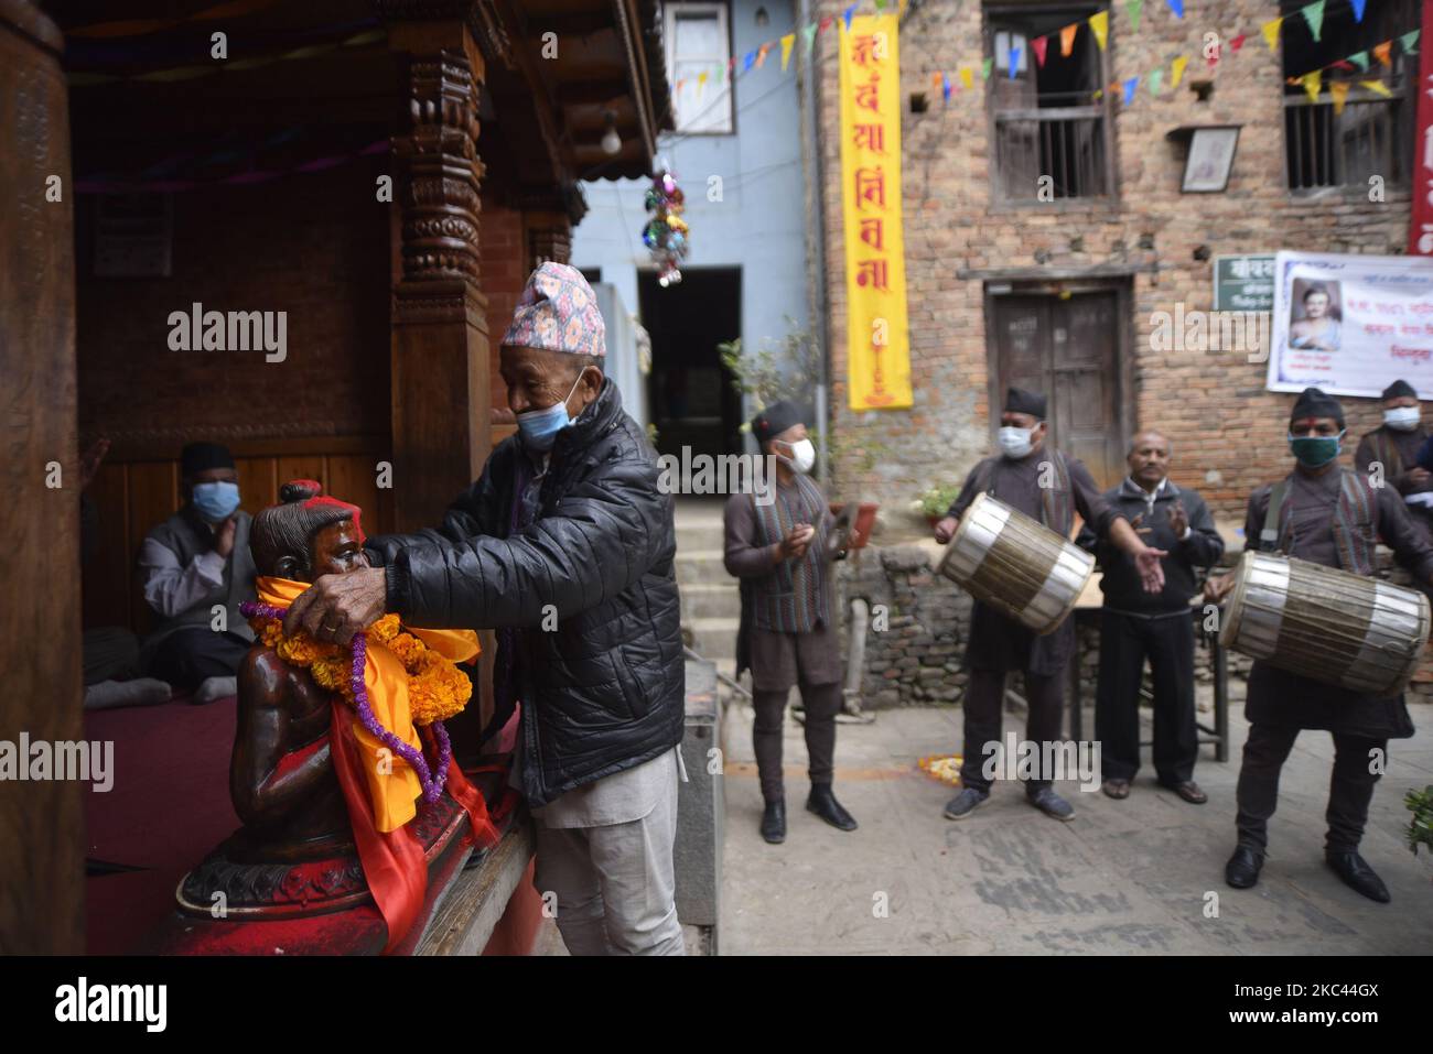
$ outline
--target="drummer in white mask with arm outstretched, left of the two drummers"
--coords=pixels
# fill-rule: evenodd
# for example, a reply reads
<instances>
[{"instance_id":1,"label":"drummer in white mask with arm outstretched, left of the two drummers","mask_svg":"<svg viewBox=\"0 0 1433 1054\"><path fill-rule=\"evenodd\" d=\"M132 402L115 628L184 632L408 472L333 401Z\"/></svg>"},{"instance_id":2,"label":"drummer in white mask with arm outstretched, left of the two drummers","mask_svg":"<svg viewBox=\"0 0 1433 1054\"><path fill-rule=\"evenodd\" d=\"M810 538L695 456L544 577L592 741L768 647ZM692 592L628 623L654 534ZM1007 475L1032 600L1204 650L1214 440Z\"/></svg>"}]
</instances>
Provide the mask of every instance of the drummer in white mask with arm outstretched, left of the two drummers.
<instances>
[{"instance_id":1,"label":"drummer in white mask with arm outstretched, left of the two drummers","mask_svg":"<svg viewBox=\"0 0 1433 1054\"><path fill-rule=\"evenodd\" d=\"M1151 548L1139 538L1123 514L1111 508L1101 497L1093 477L1079 460L1045 445L1045 395L1020 388L1009 390L1000 414L1000 453L980 461L966 477L959 497L936 524L936 541L941 546L950 541L960 516L980 493L995 495L1066 538L1070 536L1075 511L1079 510L1098 537L1134 560L1144 587L1159 593L1164 589L1161 557L1168 553ZM1000 740L1006 672L1023 673L1029 705L1025 736L1027 742L1043 746L1060 739L1066 664L1073 654L1075 624L1069 619L1053 633L1035 636L990 606L979 601L974 604L970 639L966 642L970 682L963 706L963 789L946 805L947 819L964 819L990 798L990 780L983 769L987 745ZM1045 756L1043 749L1040 756ZM1053 819L1073 819L1075 808L1050 785L1055 773L1039 775L1039 779L1026 782L1030 805Z\"/></svg>"}]
</instances>

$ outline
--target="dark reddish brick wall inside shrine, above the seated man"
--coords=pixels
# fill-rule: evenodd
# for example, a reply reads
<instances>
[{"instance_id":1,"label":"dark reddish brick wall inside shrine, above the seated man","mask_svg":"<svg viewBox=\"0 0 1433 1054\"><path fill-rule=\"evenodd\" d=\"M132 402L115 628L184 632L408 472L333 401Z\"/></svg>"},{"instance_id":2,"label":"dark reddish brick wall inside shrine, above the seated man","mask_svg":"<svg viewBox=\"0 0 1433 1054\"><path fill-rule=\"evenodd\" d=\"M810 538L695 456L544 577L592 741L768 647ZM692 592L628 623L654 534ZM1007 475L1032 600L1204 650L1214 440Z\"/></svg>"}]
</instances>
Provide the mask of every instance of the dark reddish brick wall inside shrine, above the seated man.
<instances>
[{"instance_id":1,"label":"dark reddish brick wall inside shrine, above the seated man","mask_svg":"<svg viewBox=\"0 0 1433 1054\"><path fill-rule=\"evenodd\" d=\"M96 278L93 202L80 199L82 432L176 448L205 432L387 434L388 206L373 192L385 165L176 193L171 278ZM287 359L171 351L169 312L195 301L288 312Z\"/></svg>"}]
</instances>

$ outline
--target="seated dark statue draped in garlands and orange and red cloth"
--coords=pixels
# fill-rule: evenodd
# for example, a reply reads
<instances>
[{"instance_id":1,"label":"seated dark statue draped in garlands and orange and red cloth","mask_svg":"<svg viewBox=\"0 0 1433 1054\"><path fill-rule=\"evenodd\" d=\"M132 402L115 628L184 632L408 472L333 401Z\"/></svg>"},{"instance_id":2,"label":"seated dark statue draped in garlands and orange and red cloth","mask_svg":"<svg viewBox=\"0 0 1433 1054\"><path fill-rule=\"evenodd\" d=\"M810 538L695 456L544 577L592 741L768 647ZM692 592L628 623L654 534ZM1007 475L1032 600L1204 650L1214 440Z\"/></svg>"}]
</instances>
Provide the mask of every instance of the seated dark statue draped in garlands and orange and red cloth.
<instances>
[{"instance_id":1,"label":"seated dark statue draped in garlands and orange and red cloth","mask_svg":"<svg viewBox=\"0 0 1433 1054\"><path fill-rule=\"evenodd\" d=\"M307 584L368 559L355 506L310 480L279 497L251 531L259 603L244 610L257 636L238 673L229 766L244 826L185 876L179 906L221 917L222 902L224 918L252 921L375 904L391 948L420 918L430 874L451 866L449 849L496 841L441 726L471 692L454 662L477 654L476 634L404 630L385 616L364 650L285 637L282 611Z\"/></svg>"}]
</instances>

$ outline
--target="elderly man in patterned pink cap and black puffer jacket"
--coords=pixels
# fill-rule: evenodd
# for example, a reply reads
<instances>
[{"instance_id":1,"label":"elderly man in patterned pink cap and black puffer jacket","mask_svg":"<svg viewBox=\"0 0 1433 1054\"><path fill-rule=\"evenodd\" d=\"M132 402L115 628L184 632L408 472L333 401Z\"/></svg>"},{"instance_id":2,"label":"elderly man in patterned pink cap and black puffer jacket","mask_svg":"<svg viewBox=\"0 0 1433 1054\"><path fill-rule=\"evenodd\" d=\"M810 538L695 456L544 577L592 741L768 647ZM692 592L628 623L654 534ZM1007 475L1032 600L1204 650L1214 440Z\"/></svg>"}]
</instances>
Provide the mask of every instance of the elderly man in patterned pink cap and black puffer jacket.
<instances>
[{"instance_id":1,"label":"elderly man in patterned pink cap and black puffer jacket","mask_svg":"<svg viewBox=\"0 0 1433 1054\"><path fill-rule=\"evenodd\" d=\"M384 611L496 627L497 715L522 702L520 786L539 892L573 954L682 954L672 843L685 663L672 498L602 374L582 275L543 264L503 337L519 434L438 530L368 543L370 571L320 579L289 630L347 642Z\"/></svg>"}]
</instances>

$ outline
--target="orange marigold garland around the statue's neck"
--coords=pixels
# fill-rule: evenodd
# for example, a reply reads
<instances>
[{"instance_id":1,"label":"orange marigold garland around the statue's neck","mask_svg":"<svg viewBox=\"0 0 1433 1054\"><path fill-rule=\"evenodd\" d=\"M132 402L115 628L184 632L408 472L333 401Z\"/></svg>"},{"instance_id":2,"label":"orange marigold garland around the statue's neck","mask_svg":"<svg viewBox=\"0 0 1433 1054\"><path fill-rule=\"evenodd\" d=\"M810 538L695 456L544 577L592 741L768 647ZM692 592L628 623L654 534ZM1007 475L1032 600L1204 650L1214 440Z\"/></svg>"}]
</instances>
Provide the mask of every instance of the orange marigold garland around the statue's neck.
<instances>
[{"instance_id":1,"label":"orange marigold garland around the statue's neck","mask_svg":"<svg viewBox=\"0 0 1433 1054\"><path fill-rule=\"evenodd\" d=\"M315 685L342 693L348 705L354 706L353 659L347 649L320 643L302 630L285 637L284 623L278 619L255 617L249 619L249 626L267 647L278 652L279 659L291 666L307 667ZM371 644L385 646L407 670L408 712L414 725L431 725L463 712L473 697L473 682L451 659L431 650L411 633L404 633L396 614L383 616L367 633Z\"/></svg>"}]
</instances>

